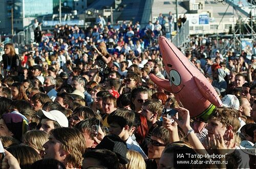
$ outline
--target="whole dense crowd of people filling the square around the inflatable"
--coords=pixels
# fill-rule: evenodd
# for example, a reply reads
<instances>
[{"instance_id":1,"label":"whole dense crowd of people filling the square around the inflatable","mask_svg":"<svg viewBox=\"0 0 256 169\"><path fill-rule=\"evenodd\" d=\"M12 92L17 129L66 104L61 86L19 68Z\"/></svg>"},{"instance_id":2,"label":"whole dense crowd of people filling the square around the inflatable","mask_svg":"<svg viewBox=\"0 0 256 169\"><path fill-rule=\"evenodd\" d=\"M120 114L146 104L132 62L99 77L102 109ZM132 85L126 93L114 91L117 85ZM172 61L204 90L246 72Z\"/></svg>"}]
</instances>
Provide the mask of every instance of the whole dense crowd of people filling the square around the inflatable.
<instances>
[{"instance_id":1,"label":"whole dense crowd of people filling the square around the inflatable","mask_svg":"<svg viewBox=\"0 0 256 169\"><path fill-rule=\"evenodd\" d=\"M215 42L191 37L184 54L223 102L198 131L201 122L148 76L167 79L160 26L123 22L115 29L102 18L87 30L56 25L53 37L42 33L20 54L5 44L2 168L256 167L256 156L239 150L241 140L256 143L255 44L248 60L244 51L223 56ZM155 25L162 22L160 15ZM172 119L169 108L178 110ZM199 162L178 163L187 159Z\"/></svg>"}]
</instances>

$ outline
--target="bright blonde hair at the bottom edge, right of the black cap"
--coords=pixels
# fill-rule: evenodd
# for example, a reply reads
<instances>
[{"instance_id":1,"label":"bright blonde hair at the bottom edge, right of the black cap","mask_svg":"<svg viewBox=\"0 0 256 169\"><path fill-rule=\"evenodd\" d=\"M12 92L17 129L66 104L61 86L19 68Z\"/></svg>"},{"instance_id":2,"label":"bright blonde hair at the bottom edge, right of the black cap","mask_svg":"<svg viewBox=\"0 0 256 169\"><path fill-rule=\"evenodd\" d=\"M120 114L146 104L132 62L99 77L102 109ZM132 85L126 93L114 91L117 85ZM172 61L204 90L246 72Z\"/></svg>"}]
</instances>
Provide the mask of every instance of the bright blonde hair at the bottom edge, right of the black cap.
<instances>
[{"instance_id":1,"label":"bright blonde hair at the bottom edge, right of the black cap","mask_svg":"<svg viewBox=\"0 0 256 169\"><path fill-rule=\"evenodd\" d=\"M130 160L130 162L125 165L126 169L146 169L146 163L137 151L127 150L126 158Z\"/></svg>"}]
</instances>

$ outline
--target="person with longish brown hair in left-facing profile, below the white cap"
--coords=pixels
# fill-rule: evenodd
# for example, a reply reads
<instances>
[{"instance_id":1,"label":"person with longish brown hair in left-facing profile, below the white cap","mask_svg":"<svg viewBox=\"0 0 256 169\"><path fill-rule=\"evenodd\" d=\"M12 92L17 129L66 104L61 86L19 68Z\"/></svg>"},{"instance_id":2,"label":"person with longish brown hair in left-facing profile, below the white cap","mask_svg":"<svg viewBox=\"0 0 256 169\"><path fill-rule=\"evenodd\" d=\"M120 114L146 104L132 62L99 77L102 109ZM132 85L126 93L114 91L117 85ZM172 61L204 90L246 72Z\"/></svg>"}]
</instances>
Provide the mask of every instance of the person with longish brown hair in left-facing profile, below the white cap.
<instances>
[{"instance_id":1,"label":"person with longish brown hair in left-facing profile, below the white cap","mask_svg":"<svg viewBox=\"0 0 256 169\"><path fill-rule=\"evenodd\" d=\"M44 158L53 158L62 162L66 168L81 168L82 155L86 151L86 140L75 128L56 128L50 133Z\"/></svg>"}]
</instances>

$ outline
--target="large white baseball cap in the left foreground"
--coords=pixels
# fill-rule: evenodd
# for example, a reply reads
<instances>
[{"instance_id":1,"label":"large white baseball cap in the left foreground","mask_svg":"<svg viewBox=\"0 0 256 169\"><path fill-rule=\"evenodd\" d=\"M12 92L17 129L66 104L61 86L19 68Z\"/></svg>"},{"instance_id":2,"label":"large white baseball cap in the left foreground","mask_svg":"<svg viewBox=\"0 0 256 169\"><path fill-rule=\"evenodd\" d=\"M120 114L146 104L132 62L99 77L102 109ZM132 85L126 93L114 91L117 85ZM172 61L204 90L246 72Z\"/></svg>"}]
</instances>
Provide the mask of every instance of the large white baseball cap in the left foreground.
<instances>
[{"instance_id":1,"label":"large white baseball cap in the left foreground","mask_svg":"<svg viewBox=\"0 0 256 169\"><path fill-rule=\"evenodd\" d=\"M61 127L69 127L69 121L67 117L59 110L51 110L49 112L39 109L37 116L40 118L45 115L48 119L56 121Z\"/></svg>"}]
</instances>

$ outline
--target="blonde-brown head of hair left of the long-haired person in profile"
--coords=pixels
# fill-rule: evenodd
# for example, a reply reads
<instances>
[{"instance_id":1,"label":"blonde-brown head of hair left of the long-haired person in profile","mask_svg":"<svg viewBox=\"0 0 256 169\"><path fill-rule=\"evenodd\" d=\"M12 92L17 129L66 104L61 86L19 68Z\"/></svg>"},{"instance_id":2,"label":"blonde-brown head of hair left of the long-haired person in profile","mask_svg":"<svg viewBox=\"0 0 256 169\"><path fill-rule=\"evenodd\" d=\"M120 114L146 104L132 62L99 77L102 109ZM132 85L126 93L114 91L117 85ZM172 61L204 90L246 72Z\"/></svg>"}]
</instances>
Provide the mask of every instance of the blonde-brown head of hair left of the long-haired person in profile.
<instances>
[{"instance_id":1,"label":"blonde-brown head of hair left of the long-haired person in profile","mask_svg":"<svg viewBox=\"0 0 256 169\"><path fill-rule=\"evenodd\" d=\"M41 130L30 130L23 135L23 144L32 147L35 151L43 157L44 145L48 141L48 133Z\"/></svg>"}]
</instances>

